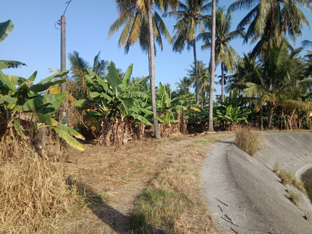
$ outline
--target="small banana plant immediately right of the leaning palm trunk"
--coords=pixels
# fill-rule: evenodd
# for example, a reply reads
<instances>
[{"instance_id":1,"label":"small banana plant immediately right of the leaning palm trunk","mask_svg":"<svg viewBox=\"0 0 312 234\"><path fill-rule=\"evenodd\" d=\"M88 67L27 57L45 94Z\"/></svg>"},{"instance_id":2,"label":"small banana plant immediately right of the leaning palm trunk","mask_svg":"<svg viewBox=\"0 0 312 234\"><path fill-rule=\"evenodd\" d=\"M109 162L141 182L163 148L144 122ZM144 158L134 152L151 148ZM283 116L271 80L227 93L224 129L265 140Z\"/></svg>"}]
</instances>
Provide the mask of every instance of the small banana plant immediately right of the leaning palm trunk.
<instances>
[{"instance_id":1,"label":"small banana plant immediately right of the leaning palm trunk","mask_svg":"<svg viewBox=\"0 0 312 234\"><path fill-rule=\"evenodd\" d=\"M157 118L160 123L176 123L178 120L175 119L175 113L180 112L181 114L192 109L200 112L198 107L201 105L194 104L194 94L185 94L173 99L170 99L170 95L167 92L165 86L159 82L159 93L157 97L157 112L159 113Z\"/></svg>"}]
</instances>

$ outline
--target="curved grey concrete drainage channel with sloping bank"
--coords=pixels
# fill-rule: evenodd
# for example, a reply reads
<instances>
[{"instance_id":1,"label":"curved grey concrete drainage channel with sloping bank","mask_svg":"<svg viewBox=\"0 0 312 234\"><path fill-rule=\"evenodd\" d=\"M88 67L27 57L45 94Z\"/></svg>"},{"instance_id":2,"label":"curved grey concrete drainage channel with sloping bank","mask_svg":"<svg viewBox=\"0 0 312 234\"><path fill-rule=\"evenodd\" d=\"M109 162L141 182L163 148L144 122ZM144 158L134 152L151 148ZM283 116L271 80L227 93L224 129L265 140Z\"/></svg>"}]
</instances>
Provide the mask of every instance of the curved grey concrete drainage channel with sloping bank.
<instances>
[{"instance_id":1,"label":"curved grey concrete drainage channel with sloping bank","mask_svg":"<svg viewBox=\"0 0 312 234\"><path fill-rule=\"evenodd\" d=\"M204 192L221 232L235 234L312 234L312 204L307 195L280 183L276 161L297 177L312 167L312 133L264 134L265 146L254 157L219 142L203 166ZM298 206L287 197L301 197Z\"/></svg>"}]
</instances>

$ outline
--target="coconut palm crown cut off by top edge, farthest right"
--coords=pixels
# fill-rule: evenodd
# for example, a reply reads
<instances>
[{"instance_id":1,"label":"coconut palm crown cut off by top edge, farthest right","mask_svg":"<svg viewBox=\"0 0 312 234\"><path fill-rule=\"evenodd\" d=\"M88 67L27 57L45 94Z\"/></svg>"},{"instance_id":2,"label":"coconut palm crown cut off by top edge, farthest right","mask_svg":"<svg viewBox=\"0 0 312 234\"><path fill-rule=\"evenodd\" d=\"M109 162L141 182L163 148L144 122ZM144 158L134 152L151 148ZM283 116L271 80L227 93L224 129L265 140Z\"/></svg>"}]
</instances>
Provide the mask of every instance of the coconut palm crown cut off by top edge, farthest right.
<instances>
[{"instance_id":1,"label":"coconut palm crown cut off by top edge, farthest right","mask_svg":"<svg viewBox=\"0 0 312 234\"><path fill-rule=\"evenodd\" d=\"M277 43L286 35L294 42L302 35L303 25L309 28L309 21L300 8L311 11L311 0L236 0L229 11L250 9L237 29L248 26L244 43L256 41L253 54L259 54L273 38Z\"/></svg>"}]
</instances>

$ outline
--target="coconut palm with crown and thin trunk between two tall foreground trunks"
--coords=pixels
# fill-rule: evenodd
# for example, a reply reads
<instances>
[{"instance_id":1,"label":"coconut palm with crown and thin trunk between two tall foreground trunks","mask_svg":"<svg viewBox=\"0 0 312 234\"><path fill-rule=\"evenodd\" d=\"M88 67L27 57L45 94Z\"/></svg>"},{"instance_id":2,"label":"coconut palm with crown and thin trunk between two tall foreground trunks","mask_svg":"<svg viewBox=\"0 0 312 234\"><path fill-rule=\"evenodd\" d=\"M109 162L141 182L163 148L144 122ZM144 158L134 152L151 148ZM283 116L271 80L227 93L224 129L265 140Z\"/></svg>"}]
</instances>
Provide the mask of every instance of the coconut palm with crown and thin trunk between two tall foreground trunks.
<instances>
[{"instance_id":1,"label":"coconut palm with crown and thin trunk between two tall foreground trunks","mask_svg":"<svg viewBox=\"0 0 312 234\"><path fill-rule=\"evenodd\" d=\"M211 10L212 4L208 0L186 0L185 3L178 1L177 10L168 12L164 16L176 17L174 26L173 51L181 53L185 47L188 50L193 48L195 64L195 92L196 104L199 104L199 82L197 76L196 58L196 36L197 30L205 32L203 20L207 20L205 13Z\"/></svg>"}]
</instances>

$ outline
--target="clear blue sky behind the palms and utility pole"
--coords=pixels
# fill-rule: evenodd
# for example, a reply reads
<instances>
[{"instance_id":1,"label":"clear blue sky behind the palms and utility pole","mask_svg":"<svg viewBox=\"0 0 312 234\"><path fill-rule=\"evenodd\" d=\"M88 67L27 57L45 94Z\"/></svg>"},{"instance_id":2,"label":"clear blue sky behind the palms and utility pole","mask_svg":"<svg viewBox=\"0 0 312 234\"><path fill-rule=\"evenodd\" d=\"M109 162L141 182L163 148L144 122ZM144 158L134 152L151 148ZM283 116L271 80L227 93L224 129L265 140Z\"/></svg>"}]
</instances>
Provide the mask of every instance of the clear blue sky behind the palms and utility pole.
<instances>
[{"instance_id":1,"label":"clear blue sky behind the palms and utility pole","mask_svg":"<svg viewBox=\"0 0 312 234\"><path fill-rule=\"evenodd\" d=\"M234 0L220 0L219 6L228 7ZM25 62L27 67L6 70L6 74L29 77L38 71L37 80L50 76L48 68L60 68L60 30L55 28L55 22L60 19L67 4L66 0L9 0L1 2L0 22L8 19L14 23L12 33L0 43L0 59L10 59ZM312 13L303 10L308 20L312 22ZM232 28L246 15L247 11L234 12ZM92 61L98 51L101 59L113 60L118 68L127 69L134 63L133 76L148 75L148 58L139 46L130 49L124 55L117 41L120 33L112 39L107 39L109 26L117 19L115 0L73 0L65 13L66 16L66 53L77 50L84 59ZM175 20L164 19L169 32L173 35ZM311 23L312 24L312 23ZM302 39L312 40L311 31L304 26ZM298 38L296 46L300 45ZM210 51L200 51L201 42L197 42L197 59L204 63L210 60ZM249 44L242 45L241 39L231 43L234 49L242 55L252 49ZM182 54L172 52L172 48L164 42L163 52L156 56L156 84L171 83L173 90L178 78L185 76L185 68L194 61L193 51ZM69 63L67 61L67 68ZM220 68L216 74L220 75ZM220 85L216 86L217 94L221 93Z\"/></svg>"}]
</instances>

